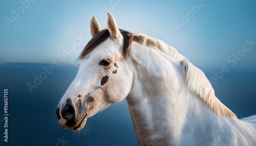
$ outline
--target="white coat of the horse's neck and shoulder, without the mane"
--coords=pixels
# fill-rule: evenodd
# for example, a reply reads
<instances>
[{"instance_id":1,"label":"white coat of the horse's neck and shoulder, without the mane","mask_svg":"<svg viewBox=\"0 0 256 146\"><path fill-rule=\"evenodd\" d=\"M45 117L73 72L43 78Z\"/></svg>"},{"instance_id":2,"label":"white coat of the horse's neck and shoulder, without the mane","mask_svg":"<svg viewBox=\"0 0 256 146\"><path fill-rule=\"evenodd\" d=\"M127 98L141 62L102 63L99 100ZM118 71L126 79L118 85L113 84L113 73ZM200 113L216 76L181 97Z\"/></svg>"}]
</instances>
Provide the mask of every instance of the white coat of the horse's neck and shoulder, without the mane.
<instances>
[{"instance_id":1,"label":"white coat of the horse's neck and shoulder, without the mane","mask_svg":"<svg viewBox=\"0 0 256 146\"><path fill-rule=\"evenodd\" d=\"M131 48L137 76L126 98L139 145L256 144L256 125L251 124L255 116L245 119L247 123L217 115L188 86L200 80L187 83L181 62L148 47L141 57L141 48L140 44Z\"/></svg>"}]
</instances>

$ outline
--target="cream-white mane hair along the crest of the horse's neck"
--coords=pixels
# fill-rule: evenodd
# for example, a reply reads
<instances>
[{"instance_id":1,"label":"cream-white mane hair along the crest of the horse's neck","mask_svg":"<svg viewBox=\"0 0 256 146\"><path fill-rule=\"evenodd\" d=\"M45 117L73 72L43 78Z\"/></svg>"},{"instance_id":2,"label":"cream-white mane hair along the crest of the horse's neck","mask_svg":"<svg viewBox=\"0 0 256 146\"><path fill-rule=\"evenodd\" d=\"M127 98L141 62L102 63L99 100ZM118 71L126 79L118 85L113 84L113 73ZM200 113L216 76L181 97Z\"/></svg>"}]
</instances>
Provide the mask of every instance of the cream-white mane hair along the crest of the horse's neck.
<instances>
[{"instance_id":1,"label":"cream-white mane hair along the crest of the horse's neck","mask_svg":"<svg viewBox=\"0 0 256 146\"><path fill-rule=\"evenodd\" d=\"M158 49L173 59L179 60L180 63L183 64L182 71L186 76L187 87L201 99L203 99L210 110L219 116L236 116L215 96L214 89L204 75L203 71L194 66L192 63L188 62L188 59L179 54L176 48L167 45L160 39L149 37L144 34L132 33L132 36L133 41L144 46Z\"/></svg>"}]
</instances>

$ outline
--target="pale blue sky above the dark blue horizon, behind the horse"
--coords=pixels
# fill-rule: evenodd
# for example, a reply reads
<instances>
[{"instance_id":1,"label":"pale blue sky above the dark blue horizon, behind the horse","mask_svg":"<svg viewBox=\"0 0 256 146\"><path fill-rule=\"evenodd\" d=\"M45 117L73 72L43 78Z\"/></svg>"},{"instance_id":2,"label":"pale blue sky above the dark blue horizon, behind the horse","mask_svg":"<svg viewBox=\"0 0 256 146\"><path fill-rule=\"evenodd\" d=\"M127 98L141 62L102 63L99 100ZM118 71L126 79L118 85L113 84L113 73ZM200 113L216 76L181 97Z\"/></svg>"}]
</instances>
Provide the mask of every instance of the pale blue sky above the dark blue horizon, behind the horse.
<instances>
[{"instance_id":1,"label":"pale blue sky above the dark blue horizon, behind the horse","mask_svg":"<svg viewBox=\"0 0 256 146\"><path fill-rule=\"evenodd\" d=\"M229 59L237 61L234 67L238 69L256 68L256 44L243 52L245 39L256 41L256 1L21 0L0 3L1 63L57 60L74 64L91 39L91 18L96 16L101 28L106 28L106 13L111 12L120 29L160 38L198 67L231 66L231 61L227 61L231 56ZM198 7L200 10L193 11L192 8ZM183 16L189 17L184 24ZM183 25L179 31L175 26L177 22ZM63 50L74 46L77 35L82 36L81 41L76 40L72 51L64 54ZM237 59L232 53L241 56Z\"/></svg>"}]
</instances>

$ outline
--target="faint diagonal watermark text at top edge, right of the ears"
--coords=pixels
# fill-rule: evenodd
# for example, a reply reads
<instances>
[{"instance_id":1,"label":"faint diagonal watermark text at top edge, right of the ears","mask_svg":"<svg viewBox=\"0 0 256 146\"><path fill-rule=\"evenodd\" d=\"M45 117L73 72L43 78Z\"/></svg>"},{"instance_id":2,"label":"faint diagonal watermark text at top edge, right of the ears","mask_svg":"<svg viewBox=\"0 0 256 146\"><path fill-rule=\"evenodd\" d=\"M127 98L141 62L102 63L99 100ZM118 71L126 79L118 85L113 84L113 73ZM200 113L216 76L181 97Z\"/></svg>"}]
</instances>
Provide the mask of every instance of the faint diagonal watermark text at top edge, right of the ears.
<instances>
[{"instance_id":1,"label":"faint diagonal watermark text at top edge, right of the ears","mask_svg":"<svg viewBox=\"0 0 256 146\"><path fill-rule=\"evenodd\" d=\"M181 21L180 22L177 22L175 21L174 22L174 26L176 28L176 30L178 32L180 32L180 29L181 28L184 28L189 22L191 19L193 19L196 14L198 14L201 10L201 8L205 7L206 6L206 3L204 0L200 0L198 1L198 5L195 5L195 6L189 6L190 10L185 14L181 14Z\"/></svg>"}]
</instances>

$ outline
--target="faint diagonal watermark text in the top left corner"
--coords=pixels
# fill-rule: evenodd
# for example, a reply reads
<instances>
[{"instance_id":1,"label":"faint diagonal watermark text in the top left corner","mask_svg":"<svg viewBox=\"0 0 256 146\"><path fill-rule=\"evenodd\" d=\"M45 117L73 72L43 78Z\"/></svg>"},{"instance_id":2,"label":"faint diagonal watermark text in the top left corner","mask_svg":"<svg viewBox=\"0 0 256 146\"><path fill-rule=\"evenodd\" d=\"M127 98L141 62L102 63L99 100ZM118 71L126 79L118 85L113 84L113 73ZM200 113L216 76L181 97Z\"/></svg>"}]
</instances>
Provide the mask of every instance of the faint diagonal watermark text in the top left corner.
<instances>
[{"instance_id":1,"label":"faint diagonal watermark text in the top left corner","mask_svg":"<svg viewBox=\"0 0 256 146\"><path fill-rule=\"evenodd\" d=\"M10 27L11 22L15 22L19 18L21 14L25 12L26 9L28 9L32 3L34 3L36 0L20 0L20 5L16 9L11 9L11 16L4 17L5 23L7 27Z\"/></svg>"}]
</instances>

